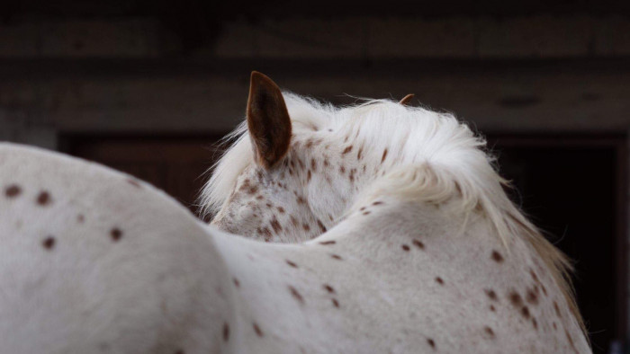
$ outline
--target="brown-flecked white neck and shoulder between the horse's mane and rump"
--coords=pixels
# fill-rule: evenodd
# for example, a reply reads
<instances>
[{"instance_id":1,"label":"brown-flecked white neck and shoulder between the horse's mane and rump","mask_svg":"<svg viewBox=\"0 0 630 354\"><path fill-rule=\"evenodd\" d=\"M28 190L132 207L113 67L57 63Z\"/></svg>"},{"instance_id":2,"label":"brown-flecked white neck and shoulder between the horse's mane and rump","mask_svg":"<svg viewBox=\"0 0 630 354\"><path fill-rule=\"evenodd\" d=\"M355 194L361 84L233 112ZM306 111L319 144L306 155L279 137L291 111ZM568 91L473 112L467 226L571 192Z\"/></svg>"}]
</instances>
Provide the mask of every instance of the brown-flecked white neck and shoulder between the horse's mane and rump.
<instances>
[{"instance_id":1,"label":"brown-flecked white neck and shoulder between the horse's mane and rump","mask_svg":"<svg viewBox=\"0 0 630 354\"><path fill-rule=\"evenodd\" d=\"M409 352L588 352L531 247L515 236L506 250L482 215L462 233L464 217L448 209L383 198L304 245L220 237L243 304L239 342L262 343L256 324L278 352L388 349L370 332L401 337Z\"/></svg>"}]
</instances>

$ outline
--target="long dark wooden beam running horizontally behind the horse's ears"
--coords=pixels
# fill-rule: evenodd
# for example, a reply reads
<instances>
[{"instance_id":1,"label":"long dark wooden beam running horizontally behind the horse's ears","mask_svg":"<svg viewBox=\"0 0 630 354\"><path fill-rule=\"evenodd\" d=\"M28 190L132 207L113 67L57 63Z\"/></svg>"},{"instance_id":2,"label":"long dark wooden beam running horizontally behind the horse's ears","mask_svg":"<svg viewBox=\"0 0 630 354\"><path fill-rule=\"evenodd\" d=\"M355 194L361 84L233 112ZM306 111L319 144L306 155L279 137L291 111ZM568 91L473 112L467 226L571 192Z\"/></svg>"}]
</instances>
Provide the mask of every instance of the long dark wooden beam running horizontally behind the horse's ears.
<instances>
[{"instance_id":1,"label":"long dark wooden beam running horizontally behind the horse's ears","mask_svg":"<svg viewBox=\"0 0 630 354\"><path fill-rule=\"evenodd\" d=\"M337 103L354 100L344 94L400 98L413 92L419 102L488 132L626 134L630 127L625 61L492 63L62 61L40 65L37 75L27 74L34 65L14 63L12 74L0 69L0 109L61 132L222 133L242 119L247 77L258 69L285 89ZM65 67L61 75L56 66Z\"/></svg>"}]
</instances>

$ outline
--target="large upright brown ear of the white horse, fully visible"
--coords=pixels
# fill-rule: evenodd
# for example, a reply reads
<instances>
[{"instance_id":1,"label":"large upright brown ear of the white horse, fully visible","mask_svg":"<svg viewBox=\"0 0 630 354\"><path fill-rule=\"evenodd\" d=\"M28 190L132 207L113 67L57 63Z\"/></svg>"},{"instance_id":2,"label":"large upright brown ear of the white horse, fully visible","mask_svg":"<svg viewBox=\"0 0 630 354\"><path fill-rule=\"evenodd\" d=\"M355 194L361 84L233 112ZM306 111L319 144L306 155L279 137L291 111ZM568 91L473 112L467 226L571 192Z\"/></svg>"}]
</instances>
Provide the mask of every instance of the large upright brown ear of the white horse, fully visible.
<instances>
[{"instance_id":1,"label":"large upright brown ear of the white horse, fully visible","mask_svg":"<svg viewBox=\"0 0 630 354\"><path fill-rule=\"evenodd\" d=\"M291 119L280 88L253 71L247 101L247 128L257 164L269 168L284 157L291 143Z\"/></svg>"}]
</instances>

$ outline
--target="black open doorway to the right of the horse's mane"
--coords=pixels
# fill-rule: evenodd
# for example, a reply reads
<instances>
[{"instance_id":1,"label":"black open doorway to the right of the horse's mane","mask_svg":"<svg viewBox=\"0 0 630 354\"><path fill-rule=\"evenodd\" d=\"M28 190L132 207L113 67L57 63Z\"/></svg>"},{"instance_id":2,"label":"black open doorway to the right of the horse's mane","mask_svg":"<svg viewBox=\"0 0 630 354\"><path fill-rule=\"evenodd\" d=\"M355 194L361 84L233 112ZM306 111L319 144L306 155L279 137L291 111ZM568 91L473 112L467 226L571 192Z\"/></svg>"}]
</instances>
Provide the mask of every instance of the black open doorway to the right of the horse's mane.
<instances>
[{"instance_id":1,"label":"black open doorway to the right of the horse's mane","mask_svg":"<svg viewBox=\"0 0 630 354\"><path fill-rule=\"evenodd\" d=\"M625 140L491 137L513 199L575 261L574 285L593 351L626 330Z\"/></svg>"}]
</instances>

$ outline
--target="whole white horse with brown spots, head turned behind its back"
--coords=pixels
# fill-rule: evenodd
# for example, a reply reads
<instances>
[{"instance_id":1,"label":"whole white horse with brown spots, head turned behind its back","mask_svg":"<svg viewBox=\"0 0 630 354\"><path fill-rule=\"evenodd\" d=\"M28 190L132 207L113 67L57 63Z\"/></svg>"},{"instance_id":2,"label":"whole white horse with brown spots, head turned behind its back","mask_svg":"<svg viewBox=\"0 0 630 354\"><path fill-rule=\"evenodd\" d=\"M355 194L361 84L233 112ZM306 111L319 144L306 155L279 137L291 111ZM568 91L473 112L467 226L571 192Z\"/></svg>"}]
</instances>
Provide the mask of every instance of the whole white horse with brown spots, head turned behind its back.
<instances>
[{"instance_id":1,"label":"whole white horse with brown spots, head turned behind its back","mask_svg":"<svg viewBox=\"0 0 630 354\"><path fill-rule=\"evenodd\" d=\"M205 210L284 243L0 146L2 351L590 352L566 259L454 117L337 109L253 73L232 137Z\"/></svg>"}]
</instances>

